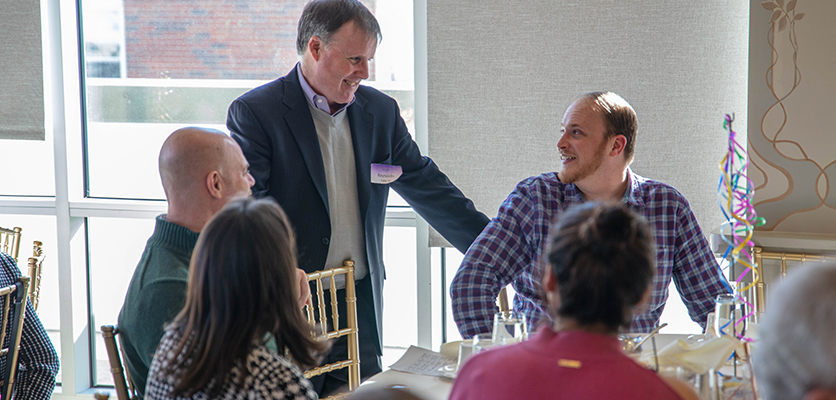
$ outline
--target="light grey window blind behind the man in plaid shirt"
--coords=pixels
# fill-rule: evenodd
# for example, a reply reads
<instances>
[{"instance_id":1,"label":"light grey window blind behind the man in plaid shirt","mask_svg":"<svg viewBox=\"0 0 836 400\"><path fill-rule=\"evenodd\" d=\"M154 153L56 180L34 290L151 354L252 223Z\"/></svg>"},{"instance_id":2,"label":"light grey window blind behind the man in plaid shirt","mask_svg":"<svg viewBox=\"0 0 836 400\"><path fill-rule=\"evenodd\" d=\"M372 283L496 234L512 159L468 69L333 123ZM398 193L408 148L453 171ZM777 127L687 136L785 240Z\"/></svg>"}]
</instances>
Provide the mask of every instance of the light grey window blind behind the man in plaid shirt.
<instances>
[{"instance_id":1,"label":"light grey window blind behind the man in plaid shirt","mask_svg":"<svg viewBox=\"0 0 836 400\"><path fill-rule=\"evenodd\" d=\"M494 217L517 182L556 170L572 101L611 90L638 114L633 170L679 189L707 234L723 221L724 114L746 132L749 7L428 0L429 155Z\"/></svg>"}]
</instances>

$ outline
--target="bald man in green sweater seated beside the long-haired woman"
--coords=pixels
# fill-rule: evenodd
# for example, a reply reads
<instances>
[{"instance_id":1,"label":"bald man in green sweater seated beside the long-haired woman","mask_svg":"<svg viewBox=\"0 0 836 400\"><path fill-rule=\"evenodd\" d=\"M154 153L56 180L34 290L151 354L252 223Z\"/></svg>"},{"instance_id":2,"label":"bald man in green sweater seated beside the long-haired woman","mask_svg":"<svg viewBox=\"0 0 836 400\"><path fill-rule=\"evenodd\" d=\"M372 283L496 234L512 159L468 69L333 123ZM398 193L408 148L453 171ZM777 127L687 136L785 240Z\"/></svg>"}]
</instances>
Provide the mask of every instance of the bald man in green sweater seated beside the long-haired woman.
<instances>
[{"instance_id":1,"label":"bald man in green sweater seated beside the long-haired woman","mask_svg":"<svg viewBox=\"0 0 836 400\"><path fill-rule=\"evenodd\" d=\"M168 212L157 217L119 313L126 367L140 397L163 328L185 304L200 231L230 200L248 196L255 182L238 144L213 129L172 133L160 150L159 168ZM310 293L302 270L299 280L303 304Z\"/></svg>"}]
</instances>

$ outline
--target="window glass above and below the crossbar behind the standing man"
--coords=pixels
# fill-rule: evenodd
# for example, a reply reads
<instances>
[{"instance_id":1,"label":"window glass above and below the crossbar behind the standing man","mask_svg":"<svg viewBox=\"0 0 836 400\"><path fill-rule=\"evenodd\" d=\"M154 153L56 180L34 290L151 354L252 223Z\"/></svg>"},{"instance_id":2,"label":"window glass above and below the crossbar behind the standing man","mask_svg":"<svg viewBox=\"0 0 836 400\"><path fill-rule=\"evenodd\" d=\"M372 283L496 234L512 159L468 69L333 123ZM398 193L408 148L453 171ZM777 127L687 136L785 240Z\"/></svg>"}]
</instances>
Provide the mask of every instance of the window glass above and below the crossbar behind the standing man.
<instances>
[{"instance_id":1,"label":"window glass above and below the crossbar behind the standing man","mask_svg":"<svg viewBox=\"0 0 836 400\"><path fill-rule=\"evenodd\" d=\"M204 126L226 132L236 97L296 65L296 21L304 1L171 2L81 0L86 111L85 188L88 198L164 200L157 156L175 129ZM412 3L369 0L385 40L366 84L396 98L414 131ZM392 205L404 205L397 196ZM88 218L90 321L115 323L152 219ZM415 229L387 229L387 265L397 293L414 280ZM410 256L409 254L412 253ZM397 256L392 256L397 254ZM390 274L391 276L391 274ZM390 285L391 286L391 285ZM387 293L391 292L387 287ZM391 296L389 309L415 308L415 296ZM114 299L106 301L105 299ZM398 313L384 317L392 346L414 343ZM391 334L388 334L391 331ZM112 384L107 355L94 336L94 385Z\"/></svg>"}]
</instances>

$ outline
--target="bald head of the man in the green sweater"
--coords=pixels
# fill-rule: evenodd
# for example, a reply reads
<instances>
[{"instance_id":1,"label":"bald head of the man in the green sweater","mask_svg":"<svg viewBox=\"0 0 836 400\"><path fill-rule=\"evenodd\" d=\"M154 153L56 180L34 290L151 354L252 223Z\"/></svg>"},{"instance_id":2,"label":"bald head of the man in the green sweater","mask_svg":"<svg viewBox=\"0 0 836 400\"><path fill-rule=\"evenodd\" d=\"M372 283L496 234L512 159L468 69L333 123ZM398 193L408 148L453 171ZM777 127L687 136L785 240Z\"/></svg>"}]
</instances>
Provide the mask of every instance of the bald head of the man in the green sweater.
<instances>
[{"instance_id":1,"label":"bald head of the man in the green sweater","mask_svg":"<svg viewBox=\"0 0 836 400\"><path fill-rule=\"evenodd\" d=\"M195 231L229 200L248 195L254 183L238 143L214 129L174 131L163 143L159 166L169 220Z\"/></svg>"}]
</instances>

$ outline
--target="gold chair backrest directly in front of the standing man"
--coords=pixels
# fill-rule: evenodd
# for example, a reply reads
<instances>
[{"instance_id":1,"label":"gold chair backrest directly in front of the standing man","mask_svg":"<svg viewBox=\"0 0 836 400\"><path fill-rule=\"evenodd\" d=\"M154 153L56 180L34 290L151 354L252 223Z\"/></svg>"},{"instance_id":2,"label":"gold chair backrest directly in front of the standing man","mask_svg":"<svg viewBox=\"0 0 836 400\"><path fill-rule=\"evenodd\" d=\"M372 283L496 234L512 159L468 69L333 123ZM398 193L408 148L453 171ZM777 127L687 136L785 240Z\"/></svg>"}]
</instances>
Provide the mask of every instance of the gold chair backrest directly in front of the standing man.
<instances>
[{"instance_id":1,"label":"gold chair backrest directly in front of the standing man","mask_svg":"<svg viewBox=\"0 0 836 400\"><path fill-rule=\"evenodd\" d=\"M345 308L347 315L345 316L346 327L343 329L339 328L340 316L337 311L337 287L334 283L334 277L338 275L345 276ZM328 315L325 311L323 278L331 278L328 279L330 281L328 291L331 299L331 326L333 329L329 329ZM308 282L315 282L316 284L316 291L312 293L313 301L310 306L305 307L308 321L311 324L317 324L322 331L316 336L316 339L331 340L346 336L348 340L348 359L309 369L305 371L305 378L310 379L311 377L326 372L348 368L348 389L350 391L354 390L360 386L360 343L357 334L357 296L354 293L354 261L347 260L339 268L312 272L308 274ZM314 308L317 309L317 313L314 313ZM314 314L316 314L317 318L314 318Z\"/></svg>"}]
</instances>

